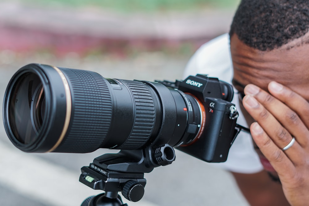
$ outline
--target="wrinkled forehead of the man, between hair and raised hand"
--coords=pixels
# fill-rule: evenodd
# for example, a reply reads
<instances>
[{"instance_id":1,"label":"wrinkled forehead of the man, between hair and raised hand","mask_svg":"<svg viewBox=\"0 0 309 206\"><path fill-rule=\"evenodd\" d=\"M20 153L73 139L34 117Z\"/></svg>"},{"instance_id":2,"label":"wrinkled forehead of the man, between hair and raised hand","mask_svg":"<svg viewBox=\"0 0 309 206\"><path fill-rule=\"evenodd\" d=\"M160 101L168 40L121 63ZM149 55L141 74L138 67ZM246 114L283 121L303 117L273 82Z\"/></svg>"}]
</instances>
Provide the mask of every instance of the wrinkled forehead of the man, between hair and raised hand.
<instances>
[{"instance_id":1,"label":"wrinkled forehead of the man, between hair and raised hand","mask_svg":"<svg viewBox=\"0 0 309 206\"><path fill-rule=\"evenodd\" d=\"M271 81L283 85L308 84L309 44L290 50L258 51L248 48L237 36L231 38L231 56L234 67L234 86L253 83L264 89Z\"/></svg>"}]
</instances>

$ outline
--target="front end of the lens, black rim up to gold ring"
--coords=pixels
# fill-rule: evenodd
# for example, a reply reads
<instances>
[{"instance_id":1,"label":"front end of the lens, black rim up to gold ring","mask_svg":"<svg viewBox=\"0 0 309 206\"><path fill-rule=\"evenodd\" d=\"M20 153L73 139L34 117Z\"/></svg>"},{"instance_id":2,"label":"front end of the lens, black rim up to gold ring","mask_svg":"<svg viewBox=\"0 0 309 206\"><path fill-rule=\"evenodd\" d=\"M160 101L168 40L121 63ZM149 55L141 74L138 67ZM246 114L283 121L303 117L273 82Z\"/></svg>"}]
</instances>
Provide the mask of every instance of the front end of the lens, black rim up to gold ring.
<instances>
[{"instance_id":1,"label":"front end of the lens, black rim up to gold ring","mask_svg":"<svg viewBox=\"0 0 309 206\"><path fill-rule=\"evenodd\" d=\"M4 127L12 143L24 152L52 151L65 134L71 100L67 82L59 71L49 65L29 64L15 73L6 88ZM32 91L37 89L33 86L34 82L37 82L36 87L42 87L44 93L44 104L40 108L44 117L39 128L34 125L33 107L38 107L38 104L33 105L35 96Z\"/></svg>"}]
</instances>

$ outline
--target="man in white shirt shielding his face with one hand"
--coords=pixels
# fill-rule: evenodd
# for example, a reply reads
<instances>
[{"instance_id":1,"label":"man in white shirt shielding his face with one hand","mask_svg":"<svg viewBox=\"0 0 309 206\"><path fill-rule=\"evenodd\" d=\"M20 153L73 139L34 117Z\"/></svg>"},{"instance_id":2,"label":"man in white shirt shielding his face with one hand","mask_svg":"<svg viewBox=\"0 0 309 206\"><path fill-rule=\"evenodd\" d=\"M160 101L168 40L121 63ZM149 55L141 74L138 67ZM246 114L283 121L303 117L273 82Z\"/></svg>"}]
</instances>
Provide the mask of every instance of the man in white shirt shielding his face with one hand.
<instances>
[{"instance_id":1,"label":"man in white shirt shielding his face with one hand","mask_svg":"<svg viewBox=\"0 0 309 206\"><path fill-rule=\"evenodd\" d=\"M229 35L231 61L224 35L200 48L186 69L186 75L204 73L225 81L231 81L227 74L233 76L239 93L233 101L239 100L251 125L261 164L243 136L223 166L251 205L309 204L308 31L308 1L243 0Z\"/></svg>"}]
</instances>

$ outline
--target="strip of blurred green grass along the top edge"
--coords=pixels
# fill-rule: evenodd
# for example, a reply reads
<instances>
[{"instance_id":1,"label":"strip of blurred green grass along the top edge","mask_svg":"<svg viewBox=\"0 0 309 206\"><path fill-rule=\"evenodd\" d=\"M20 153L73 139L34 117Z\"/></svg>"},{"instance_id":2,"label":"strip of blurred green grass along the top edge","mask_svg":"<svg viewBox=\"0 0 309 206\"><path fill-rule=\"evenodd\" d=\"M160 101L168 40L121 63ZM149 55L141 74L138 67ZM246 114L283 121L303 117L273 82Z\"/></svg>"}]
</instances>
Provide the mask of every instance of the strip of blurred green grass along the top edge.
<instances>
[{"instance_id":1,"label":"strip of blurred green grass along the top edge","mask_svg":"<svg viewBox=\"0 0 309 206\"><path fill-rule=\"evenodd\" d=\"M196 11L235 8L240 0L29 0L39 6L97 7L130 12Z\"/></svg>"}]
</instances>

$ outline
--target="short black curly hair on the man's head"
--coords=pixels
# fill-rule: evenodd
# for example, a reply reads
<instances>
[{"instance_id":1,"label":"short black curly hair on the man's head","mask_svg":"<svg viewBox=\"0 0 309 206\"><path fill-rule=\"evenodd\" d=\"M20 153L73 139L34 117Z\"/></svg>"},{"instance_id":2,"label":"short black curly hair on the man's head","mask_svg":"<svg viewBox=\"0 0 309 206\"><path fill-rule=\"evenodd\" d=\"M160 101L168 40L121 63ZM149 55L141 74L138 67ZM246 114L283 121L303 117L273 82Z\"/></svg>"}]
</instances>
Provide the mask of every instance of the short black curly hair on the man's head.
<instances>
[{"instance_id":1,"label":"short black curly hair on the man's head","mask_svg":"<svg viewBox=\"0 0 309 206\"><path fill-rule=\"evenodd\" d=\"M308 0L242 0L229 34L252 48L270 51L308 31Z\"/></svg>"}]
</instances>

